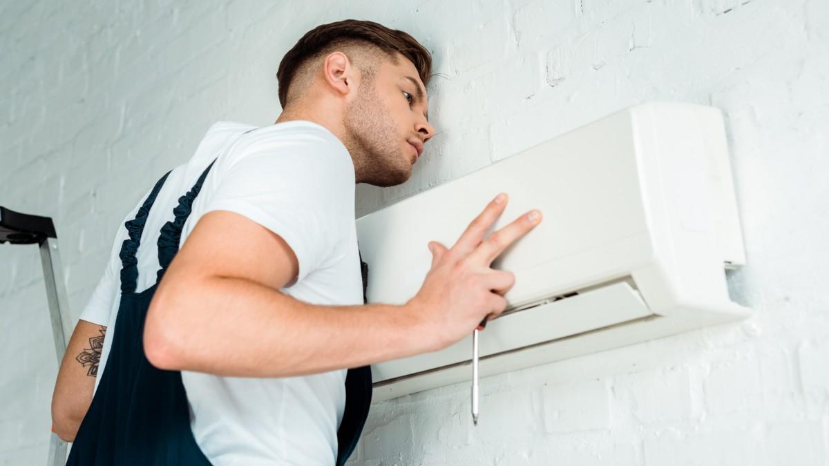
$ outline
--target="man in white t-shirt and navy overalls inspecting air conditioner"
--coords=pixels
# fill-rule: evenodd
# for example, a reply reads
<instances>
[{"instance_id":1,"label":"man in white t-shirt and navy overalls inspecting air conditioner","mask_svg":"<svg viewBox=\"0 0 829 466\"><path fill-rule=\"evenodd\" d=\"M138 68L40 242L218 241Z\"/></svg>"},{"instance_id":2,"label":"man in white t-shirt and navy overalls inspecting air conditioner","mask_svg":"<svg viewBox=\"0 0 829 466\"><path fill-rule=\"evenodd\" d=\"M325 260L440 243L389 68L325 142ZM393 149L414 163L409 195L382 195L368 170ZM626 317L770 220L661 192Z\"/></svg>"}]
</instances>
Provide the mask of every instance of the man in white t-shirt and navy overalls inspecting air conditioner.
<instances>
[{"instance_id":1,"label":"man in white t-shirt and navy overalls inspecting air conditioner","mask_svg":"<svg viewBox=\"0 0 829 466\"><path fill-rule=\"evenodd\" d=\"M451 250L429 243L408 303L362 300L354 185L410 177L434 135L430 66L405 32L317 27L279 66L274 125L214 124L138 203L61 363L70 464L342 464L368 402L344 448L347 368L448 347L503 311L513 276L489 265L540 221L484 240L506 195Z\"/></svg>"}]
</instances>

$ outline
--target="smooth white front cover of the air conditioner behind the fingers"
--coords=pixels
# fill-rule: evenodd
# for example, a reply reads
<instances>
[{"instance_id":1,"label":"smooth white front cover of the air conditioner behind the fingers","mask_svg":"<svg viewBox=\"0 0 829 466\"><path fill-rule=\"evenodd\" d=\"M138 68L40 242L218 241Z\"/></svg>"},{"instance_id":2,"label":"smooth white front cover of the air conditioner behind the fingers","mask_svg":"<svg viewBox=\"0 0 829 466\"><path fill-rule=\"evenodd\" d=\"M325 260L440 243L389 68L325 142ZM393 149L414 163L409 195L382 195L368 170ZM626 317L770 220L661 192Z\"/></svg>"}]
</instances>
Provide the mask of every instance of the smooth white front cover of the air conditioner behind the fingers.
<instances>
[{"instance_id":1,"label":"smooth white front cover of the air conditioner behind the fingers","mask_svg":"<svg viewBox=\"0 0 829 466\"><path fill-rule=\"evenodd\" d=\"M632 124L620 113L358 219L369 302L401 304L417 294L431 264L429 240L454 245L498 192L510 200L492 231L532 209L544 215L492 263L516 274L510 305L555 292L551 284L602 281L651 260ZM620 247L627 243L635 247ZM539 269L543 278L525 273Z\"/></svg>"}]
</instances>

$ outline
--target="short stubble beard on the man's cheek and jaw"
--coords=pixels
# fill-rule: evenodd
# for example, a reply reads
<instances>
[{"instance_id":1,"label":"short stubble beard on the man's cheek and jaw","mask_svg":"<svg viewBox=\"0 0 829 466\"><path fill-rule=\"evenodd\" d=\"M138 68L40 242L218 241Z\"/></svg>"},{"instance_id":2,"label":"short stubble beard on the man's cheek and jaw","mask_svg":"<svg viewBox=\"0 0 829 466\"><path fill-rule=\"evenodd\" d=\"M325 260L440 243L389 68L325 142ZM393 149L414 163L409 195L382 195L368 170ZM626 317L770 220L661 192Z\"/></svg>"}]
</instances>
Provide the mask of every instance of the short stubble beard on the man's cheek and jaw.
<instances>
[{"instance_id":1,"label":"short stubble beard on the man's cheek and jaw","mask_svg":"<svg viewBox=\"0 0 829 466\"><path fill-rule=\"evenodd\" d=\"M373 83L362 83L355 102L346 107L346 148L360 182L377 187L399 185L411 176L411 163L400 153L394 119L377 97Z\"/></svg>"}]
</instances>

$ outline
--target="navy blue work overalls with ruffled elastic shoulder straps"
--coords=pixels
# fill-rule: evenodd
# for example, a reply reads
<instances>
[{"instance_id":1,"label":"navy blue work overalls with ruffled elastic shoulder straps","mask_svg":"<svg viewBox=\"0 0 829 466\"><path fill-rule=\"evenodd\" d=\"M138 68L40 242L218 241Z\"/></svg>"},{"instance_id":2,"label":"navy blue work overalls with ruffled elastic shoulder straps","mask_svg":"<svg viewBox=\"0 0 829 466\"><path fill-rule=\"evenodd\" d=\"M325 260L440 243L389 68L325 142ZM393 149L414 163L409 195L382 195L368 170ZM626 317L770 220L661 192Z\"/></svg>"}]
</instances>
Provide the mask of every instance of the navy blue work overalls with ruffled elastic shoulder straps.
<instances>
[{"instance_id":1,"label":"navy blue work overalls with ruffled elastic shoulder straps","mask_svg":"<svg viewBox=\"0 0 829 466\"><path fill-rule=\"evenodd\" d=\"M213 163L215 163L214 161ZM158 238L156 283L136 293L138 260L144 224L167 172L127 227L129 239L121 247L121 302L112 347L90 409L80 424L66 464L79 466L209 465L190 429L190 410L180 371L163 371L148 362L143 351L147 309L167 266L178 252L182 226L190 216L193 199L201 191L211 163L196 184L178 199L175 218L162 226ZM361 262L363 303L366 303L368 267ZM371 405L371 368L347 371L346 406L337 430L337 466L354 450ZM267 409L267 406L263 406Z\"/></svg>"}]
</instances>

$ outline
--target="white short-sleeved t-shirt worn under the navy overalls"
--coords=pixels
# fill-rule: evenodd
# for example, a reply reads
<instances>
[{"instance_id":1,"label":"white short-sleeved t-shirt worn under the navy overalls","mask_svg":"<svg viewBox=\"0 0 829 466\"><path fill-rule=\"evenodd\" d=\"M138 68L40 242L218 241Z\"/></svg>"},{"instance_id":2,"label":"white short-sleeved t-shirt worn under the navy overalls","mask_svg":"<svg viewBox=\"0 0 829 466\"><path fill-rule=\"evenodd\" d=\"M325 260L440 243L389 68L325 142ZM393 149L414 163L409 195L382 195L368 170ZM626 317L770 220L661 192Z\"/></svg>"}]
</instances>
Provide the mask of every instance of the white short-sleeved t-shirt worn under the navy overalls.
<instances>
[{"instance_id":1,"label":"white short-sleeved t-shirt worn under the navy overalls","mask_svg":"<svg viewBox=\"0 0 829 466\"><path fill-rule=\"evenodd\" d=\"M217 157L193 202L180 246L207 212L234 211L279 234L297 255L298 279L280 290L284 294L307 303L361 304L351 156L333 133L299 120L259 129L230 122L211 126L190 162L167 177L149 212L137 254L136 291L155 283L156 242L162 225L173 218L178 197L190 190ZM134 218L147 196L124 222ZM232 231L226 233L228 242L245 240ZM80 316L109 327L95 390L112 345L109 336L114 334L121 294L119 251L127 238L122 222L109 265ZM282 378L182 371L196 443L216 466L334 464L337 429L345 408L345 378L346 369Z\"/></svg>"}]
</instances>

